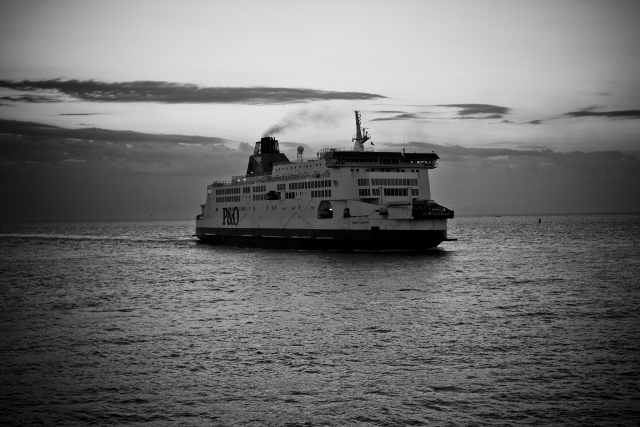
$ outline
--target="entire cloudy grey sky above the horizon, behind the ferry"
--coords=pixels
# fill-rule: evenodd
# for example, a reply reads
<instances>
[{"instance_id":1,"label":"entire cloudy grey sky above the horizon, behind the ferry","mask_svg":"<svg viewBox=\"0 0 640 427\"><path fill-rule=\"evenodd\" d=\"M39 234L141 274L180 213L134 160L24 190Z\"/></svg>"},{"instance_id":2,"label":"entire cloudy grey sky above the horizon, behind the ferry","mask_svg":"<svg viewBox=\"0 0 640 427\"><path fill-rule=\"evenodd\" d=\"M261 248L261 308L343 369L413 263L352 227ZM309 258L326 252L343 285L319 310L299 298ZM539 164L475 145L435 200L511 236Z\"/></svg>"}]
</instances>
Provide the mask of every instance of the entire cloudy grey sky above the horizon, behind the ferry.
<instances>
[{"instance_id":1,"label":"entire cloudy grey sky above the horizon, behind the ferry","mask_svg":"<svg viewBox=\"0 0 640 427\"><path fill-rule=\"evenodd\" d=\"M0 2L0 221L191 219L261 136L456 215L640 212L640 2Z\"/></svg>"}]
</instances>

